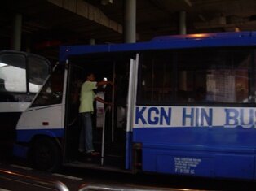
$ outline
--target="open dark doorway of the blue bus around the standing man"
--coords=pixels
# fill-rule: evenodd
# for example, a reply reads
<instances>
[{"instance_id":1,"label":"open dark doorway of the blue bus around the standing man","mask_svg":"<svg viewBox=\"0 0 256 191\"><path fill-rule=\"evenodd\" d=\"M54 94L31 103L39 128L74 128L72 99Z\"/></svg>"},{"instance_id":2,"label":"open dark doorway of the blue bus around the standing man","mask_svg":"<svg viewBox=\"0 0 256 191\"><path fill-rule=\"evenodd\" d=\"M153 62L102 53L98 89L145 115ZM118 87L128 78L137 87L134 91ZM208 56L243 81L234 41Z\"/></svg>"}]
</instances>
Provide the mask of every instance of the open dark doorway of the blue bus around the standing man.
<instances>
[{"instance_id":1,"label":"open dark doorway of the blue bus around the standing man","mask_svg":"<svg viewBox=\"0 0 256 191\"><path fill-rule=\"evenodd\" d=\"M86 56L70 59L68 68L67 102L65 113L64 163L72 166L101 166L125 168L126 111L129 84L130 57L121 55ZM96 81L111 80L107 85L95 89L95 93L112 108L95 102L92 116L93 143L99 157L82 157L78 152L81 120L78 113L81 85L86 73L93 72ZM104 132L103 132L104 131ZM104 139L103 139L104 137ZM104 154L104 157L101 157Z\"/></svg>"}]
</instances>

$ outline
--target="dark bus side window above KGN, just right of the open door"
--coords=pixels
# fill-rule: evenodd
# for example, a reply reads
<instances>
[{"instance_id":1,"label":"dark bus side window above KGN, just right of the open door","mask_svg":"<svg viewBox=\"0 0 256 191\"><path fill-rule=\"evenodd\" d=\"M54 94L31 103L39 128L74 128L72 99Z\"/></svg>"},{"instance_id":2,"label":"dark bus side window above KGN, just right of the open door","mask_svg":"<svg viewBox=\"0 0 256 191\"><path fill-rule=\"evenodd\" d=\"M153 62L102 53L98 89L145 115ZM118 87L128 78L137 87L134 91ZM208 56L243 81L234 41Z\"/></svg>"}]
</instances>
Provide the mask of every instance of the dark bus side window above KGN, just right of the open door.
<instances>
[{"instance_id":1,"label":"dark bus side window above KGN, just right of the open door","mask_svg":"<svg viewBox=\"0 0 256 191\"><path fill-rule=\"evenodd\" d=\"M173 101L173 70L169 51L145 52L140 64L139 102Z\"/></svg>"}]
</instances>

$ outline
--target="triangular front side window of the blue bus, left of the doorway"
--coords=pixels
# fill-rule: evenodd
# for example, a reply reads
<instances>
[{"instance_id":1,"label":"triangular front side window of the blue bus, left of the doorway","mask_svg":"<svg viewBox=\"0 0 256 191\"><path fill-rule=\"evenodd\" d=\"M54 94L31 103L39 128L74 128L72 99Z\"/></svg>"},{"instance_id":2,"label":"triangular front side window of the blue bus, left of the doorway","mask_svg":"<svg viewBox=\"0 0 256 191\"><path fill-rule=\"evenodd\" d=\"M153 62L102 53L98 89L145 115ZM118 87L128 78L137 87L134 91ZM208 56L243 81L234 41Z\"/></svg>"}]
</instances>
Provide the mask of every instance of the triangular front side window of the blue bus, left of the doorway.
<instances>
[{"instance_id":1,"label":"triangular front side window of the blue bus, left of the doorway","mask_svg":"<svg viewBox=\"0 0 256 191\"><path fill-rule=\"evenodd\" d=\"M43 86L32 107L60 104L62 101L63 85L64 67L58 66Z\"/></svg>"}]
</instances>

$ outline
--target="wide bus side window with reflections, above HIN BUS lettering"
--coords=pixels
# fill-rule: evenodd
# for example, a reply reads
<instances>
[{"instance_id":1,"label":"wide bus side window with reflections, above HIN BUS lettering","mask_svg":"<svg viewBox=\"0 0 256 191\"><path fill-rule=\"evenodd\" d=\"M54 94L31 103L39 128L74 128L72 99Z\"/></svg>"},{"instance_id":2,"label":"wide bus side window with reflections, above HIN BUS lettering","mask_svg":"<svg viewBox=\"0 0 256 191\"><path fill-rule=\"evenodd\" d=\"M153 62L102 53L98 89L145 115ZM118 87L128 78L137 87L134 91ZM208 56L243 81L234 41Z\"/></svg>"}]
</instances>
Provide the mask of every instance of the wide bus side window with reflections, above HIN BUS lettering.
<instances>
[{"instance_id":1,"label":"wide bus side window with reflections, above HIN BUS lettering","mask_svg":"<svg viewBox=\"0 0 256 191\"><path fill-rule=\"evenodd\" d=\"M249 49L181 50L177 94L186 91L187 102L251 102L251 59Z\"/></svg>"}]
</instances>

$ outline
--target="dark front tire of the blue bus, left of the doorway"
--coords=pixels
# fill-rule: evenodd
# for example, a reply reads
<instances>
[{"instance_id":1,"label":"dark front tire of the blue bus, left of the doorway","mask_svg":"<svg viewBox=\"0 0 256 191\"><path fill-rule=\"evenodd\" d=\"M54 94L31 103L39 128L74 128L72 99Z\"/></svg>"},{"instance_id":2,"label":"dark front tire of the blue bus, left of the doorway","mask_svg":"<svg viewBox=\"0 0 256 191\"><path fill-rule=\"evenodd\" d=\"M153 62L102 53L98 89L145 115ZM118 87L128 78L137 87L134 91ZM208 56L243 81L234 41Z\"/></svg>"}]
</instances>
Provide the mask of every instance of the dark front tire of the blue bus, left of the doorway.
<instances>
[{"instance_id":1,"label":"dark front tire of the blue bus, left of the doorway","mask_svg":"<svg viewBox=\"0 0 256 191\"><path fill-rule=\"evenodd\" d=\"M33 144L33 167L42 171L56 171L60 167L60 148L50 138L39 138Z\"/></svg>"}]
</instances>

